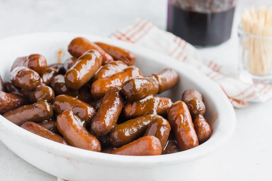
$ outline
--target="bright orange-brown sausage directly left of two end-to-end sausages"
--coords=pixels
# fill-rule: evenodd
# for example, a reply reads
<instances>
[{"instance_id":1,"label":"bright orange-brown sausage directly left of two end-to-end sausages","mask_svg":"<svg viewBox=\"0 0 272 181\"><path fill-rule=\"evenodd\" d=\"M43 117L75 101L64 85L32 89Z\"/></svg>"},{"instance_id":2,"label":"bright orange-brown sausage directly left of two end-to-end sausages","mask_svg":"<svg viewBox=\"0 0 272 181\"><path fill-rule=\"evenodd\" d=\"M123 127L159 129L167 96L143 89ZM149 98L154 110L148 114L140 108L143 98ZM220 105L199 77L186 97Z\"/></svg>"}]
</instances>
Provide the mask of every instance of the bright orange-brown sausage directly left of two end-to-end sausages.
<instances>
[{"instance_id":1,"label":"bright orange-brown sausage directly left of two end-to-end sausages","mask_svg":"<svg viewBox=\"0 0 272 181\"><path fill-rule=\"evenodd\" d=\"M92 84L91 93L95 99L104 97L111 87L123 87L125 81L134 77L142 77L141 71L135 66L129 66L121 72L98 79Z\"/></svg>"}]
</instances>

